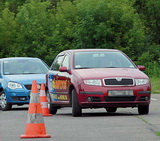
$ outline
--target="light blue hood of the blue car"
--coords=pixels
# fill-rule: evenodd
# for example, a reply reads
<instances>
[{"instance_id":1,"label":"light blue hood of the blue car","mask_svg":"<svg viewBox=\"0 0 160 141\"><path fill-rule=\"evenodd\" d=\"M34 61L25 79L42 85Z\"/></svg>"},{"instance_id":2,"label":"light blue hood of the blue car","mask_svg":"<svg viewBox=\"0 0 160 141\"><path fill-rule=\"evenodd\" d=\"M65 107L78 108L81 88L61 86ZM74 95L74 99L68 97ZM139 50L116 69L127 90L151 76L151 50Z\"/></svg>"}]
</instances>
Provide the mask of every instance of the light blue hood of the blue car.
<instances>
[{"instance_id":1,"label":"light blue hood of the blue car","mask_svg":"<svg viewBox=\"0 0 160 141\"><path fill-rule=\"evenodd\" d=\"M37 83L45 83L46 74L27 74L27 75L5 75L8 81L14 81L21 84L32 84L33 80Z\"/></svg>"}]
</instances>

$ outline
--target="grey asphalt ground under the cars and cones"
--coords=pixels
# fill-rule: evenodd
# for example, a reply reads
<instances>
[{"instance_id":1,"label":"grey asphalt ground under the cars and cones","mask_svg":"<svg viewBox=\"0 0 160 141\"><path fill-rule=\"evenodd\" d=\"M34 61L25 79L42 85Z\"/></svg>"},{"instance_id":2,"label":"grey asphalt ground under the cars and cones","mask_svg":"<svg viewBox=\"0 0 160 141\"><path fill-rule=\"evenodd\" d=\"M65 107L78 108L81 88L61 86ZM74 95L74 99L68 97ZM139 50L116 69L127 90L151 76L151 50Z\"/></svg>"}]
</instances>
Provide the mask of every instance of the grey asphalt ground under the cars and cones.
<instances>
[{"instance_id":1,"label":"grey asphalt ground under the cars and cones","mask_svg":"<svg viewBox=\"0 0 160 141\"><path fill-rule=\"evenodd\" d=\"M84 109L72 117L71 108L43 117L51 138L20 139L26 129L28 106L0 110L0 141L160 141L160 94L152 95L150 113L138 115L137 108L122 108L109 114L105 109Z\"/></svg>"}]
</instances>

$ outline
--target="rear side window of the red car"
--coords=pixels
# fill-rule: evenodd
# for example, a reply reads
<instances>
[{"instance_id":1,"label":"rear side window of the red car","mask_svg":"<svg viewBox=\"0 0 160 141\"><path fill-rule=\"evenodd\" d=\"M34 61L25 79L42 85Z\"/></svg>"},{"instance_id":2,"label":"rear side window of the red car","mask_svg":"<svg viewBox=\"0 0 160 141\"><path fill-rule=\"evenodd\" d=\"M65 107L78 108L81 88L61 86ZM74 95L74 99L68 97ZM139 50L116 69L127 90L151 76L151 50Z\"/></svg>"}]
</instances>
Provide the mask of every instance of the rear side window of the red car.
<instances>
[{"instance_id":1,"label":"rear side window of the red car","mask_svg":"<svg viewBox=\"0 0 160 141\"><path fill-rule=\"evenodd\" d=\"M58 71L59 67L60 67L60 65L62 63L63 58L64 58L64 55L58 56L56 58L56 60L54 61L54 63L52 64L51 70Z\"/></svg>"}]
</instances>

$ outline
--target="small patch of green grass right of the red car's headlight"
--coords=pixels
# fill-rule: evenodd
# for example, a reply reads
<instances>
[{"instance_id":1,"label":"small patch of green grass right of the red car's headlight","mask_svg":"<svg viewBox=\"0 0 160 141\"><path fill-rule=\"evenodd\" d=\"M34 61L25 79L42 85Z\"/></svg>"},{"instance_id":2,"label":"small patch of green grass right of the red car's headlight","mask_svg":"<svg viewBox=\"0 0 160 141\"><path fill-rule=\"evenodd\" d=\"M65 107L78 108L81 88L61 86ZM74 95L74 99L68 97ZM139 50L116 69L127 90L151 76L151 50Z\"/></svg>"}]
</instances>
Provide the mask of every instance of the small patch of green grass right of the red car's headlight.
<instances>
[{"instance_id":1,"label":"small patch of green grass right of the red car's headlight","mask_svg":"<svg viewBox=\"0 0 160 141\"><path fill-rule=\"evenodd\" d=\"M160 78L150 78L152 94L160 94Z\"/></svg>"}]
</instances>

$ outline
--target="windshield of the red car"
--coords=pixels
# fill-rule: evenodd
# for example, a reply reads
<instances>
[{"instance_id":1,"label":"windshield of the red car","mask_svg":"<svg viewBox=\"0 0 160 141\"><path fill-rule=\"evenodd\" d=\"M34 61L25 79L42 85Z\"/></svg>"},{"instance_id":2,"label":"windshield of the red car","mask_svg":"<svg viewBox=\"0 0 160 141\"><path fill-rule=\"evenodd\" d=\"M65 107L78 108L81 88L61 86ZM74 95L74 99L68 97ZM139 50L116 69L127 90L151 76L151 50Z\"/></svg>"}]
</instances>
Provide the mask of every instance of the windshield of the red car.
<instances>
[{"instance_id":1,"label":"windshield of the red car","mask_svg":"<svg viewBox=\"0 0 160 141\"><path fill-rule=\"evenodd\" d=\"M135 65L121 52L76 52L74 68L135 68Z\"/></svg>"}]
</instances>

